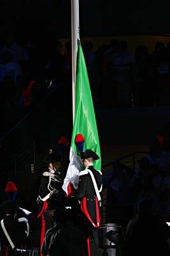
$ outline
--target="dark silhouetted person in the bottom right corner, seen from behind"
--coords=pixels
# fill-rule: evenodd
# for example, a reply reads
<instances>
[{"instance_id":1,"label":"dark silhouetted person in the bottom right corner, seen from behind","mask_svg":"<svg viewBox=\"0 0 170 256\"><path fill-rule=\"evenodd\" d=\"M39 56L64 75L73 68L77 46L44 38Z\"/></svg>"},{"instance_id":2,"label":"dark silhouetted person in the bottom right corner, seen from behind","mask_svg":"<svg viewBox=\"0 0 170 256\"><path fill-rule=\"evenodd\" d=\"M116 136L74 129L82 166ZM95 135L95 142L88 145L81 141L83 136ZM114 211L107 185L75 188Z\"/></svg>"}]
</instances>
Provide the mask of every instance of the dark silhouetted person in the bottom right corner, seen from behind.
<instances>
[{"instance_id":1,"label":"dark silhouetted person in the bottom right corner, seen from behind","mask_svg":"<svg viewBox=\"0 0 170 256\"><path fill-rule=\"evenodd\" d=\"M136 219L127 225L127 255L169 255L167 240L170 229L165 221L153 216L152 201L143 198L138 202Z\"/></svg>"}]
</instances>

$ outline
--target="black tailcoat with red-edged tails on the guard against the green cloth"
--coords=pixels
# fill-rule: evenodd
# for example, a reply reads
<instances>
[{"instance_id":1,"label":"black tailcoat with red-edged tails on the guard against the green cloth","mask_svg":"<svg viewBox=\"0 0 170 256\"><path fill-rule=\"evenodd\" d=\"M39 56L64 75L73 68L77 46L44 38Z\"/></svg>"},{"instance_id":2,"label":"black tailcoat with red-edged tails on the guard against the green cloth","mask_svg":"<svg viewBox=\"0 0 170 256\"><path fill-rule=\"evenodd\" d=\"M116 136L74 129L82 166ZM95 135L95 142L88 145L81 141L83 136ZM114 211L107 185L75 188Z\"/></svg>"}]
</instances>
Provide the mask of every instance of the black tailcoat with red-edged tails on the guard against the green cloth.
<instances>
[{"instance_id":1,"label":"black tailcoat with red-edged tails on the guard against the green cloth","mask_svg":"<svg viewBox=\"0 0 170 256\"><path fill-rule=\"evenodd\" d=\"M92 171L97 188L100 190L102 185L101 173L95 170L93 166L89 166L88 169ZM90 173L80 176L76 198L80 200L81 211L87 216L90 223L94 227L99 226L99 202Z\"/></svg>"}]
</instances>

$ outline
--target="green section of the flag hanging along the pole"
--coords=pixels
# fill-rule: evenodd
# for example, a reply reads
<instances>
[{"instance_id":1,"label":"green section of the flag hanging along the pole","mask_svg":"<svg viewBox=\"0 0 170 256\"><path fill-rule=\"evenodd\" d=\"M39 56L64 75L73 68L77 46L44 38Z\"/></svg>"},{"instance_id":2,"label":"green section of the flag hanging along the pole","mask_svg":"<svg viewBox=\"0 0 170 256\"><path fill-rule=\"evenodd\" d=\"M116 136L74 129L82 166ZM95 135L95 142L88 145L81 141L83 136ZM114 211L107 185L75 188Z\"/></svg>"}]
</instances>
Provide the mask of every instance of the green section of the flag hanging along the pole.
<instances>
[{"instance_id":1,"label":"green section of the flag hanging along the pole","mask_svg":"<svg viewBox=\"0 0 170 256\"><path fill-rule=\"evenodd\" d=\"M78 154L74 140L76 134L83 134L83 137L85 138L84 150L89 148L96 152L100 159L95 161L94 168L101 170L101 150L97 132L96 117L81 44L78 44L75 103L75 117L71 147L73 147L74 152Z\"/></svg>"}]
</instances>

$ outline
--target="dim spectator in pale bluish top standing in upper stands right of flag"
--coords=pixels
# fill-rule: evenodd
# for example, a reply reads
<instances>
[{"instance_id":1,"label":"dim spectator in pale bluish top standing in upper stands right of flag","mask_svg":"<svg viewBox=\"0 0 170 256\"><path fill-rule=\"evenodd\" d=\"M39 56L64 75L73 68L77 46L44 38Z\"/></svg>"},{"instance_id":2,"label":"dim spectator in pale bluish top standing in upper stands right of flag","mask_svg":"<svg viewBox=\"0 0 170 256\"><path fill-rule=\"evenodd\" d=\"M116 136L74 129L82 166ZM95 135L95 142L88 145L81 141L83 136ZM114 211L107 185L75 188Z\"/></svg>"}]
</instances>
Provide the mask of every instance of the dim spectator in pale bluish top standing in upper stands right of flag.
<instances>
[{"instance_id":1,"label":"dim spectator in pale bluish top standing in upper stands right of flag","mask_svg":"<svg viewBox=\"0 0 170 256\"><path fill-rule=\"evenodd\" d=\"M110 49L104 52L104 78L110 86L106 91L111 106L114 106L114 102L117 106L131 106L133 62L132 54L127 51L127 43L112 40Z\"/></svg>"}]
</instances>

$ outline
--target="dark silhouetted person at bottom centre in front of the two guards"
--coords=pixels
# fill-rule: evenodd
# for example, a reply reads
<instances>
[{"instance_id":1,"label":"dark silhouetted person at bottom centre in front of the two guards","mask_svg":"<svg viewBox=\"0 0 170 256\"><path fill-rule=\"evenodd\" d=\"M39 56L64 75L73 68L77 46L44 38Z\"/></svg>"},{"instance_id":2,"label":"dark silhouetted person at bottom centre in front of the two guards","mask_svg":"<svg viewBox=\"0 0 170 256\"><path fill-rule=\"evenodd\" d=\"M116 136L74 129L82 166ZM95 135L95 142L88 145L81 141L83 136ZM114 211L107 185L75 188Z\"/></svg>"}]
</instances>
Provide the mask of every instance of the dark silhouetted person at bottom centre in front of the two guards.
<instances>
[{"instance_id":1,"label":"dark silhouetted person at bottom centre in front of the two guards","mask_svg":"<svg viewBox=\"0 0 170 256\"><path fill-rule=\"evenodd\" d=\"M48 256L87 256L86 237L83 231L76 225L76 216L73 209L62 209L55 216L57 225L49 230L46 238L47 253L43 246L44 255ZM44 244L45 245L45 244Z\"/></svg>"}]
</instances>

